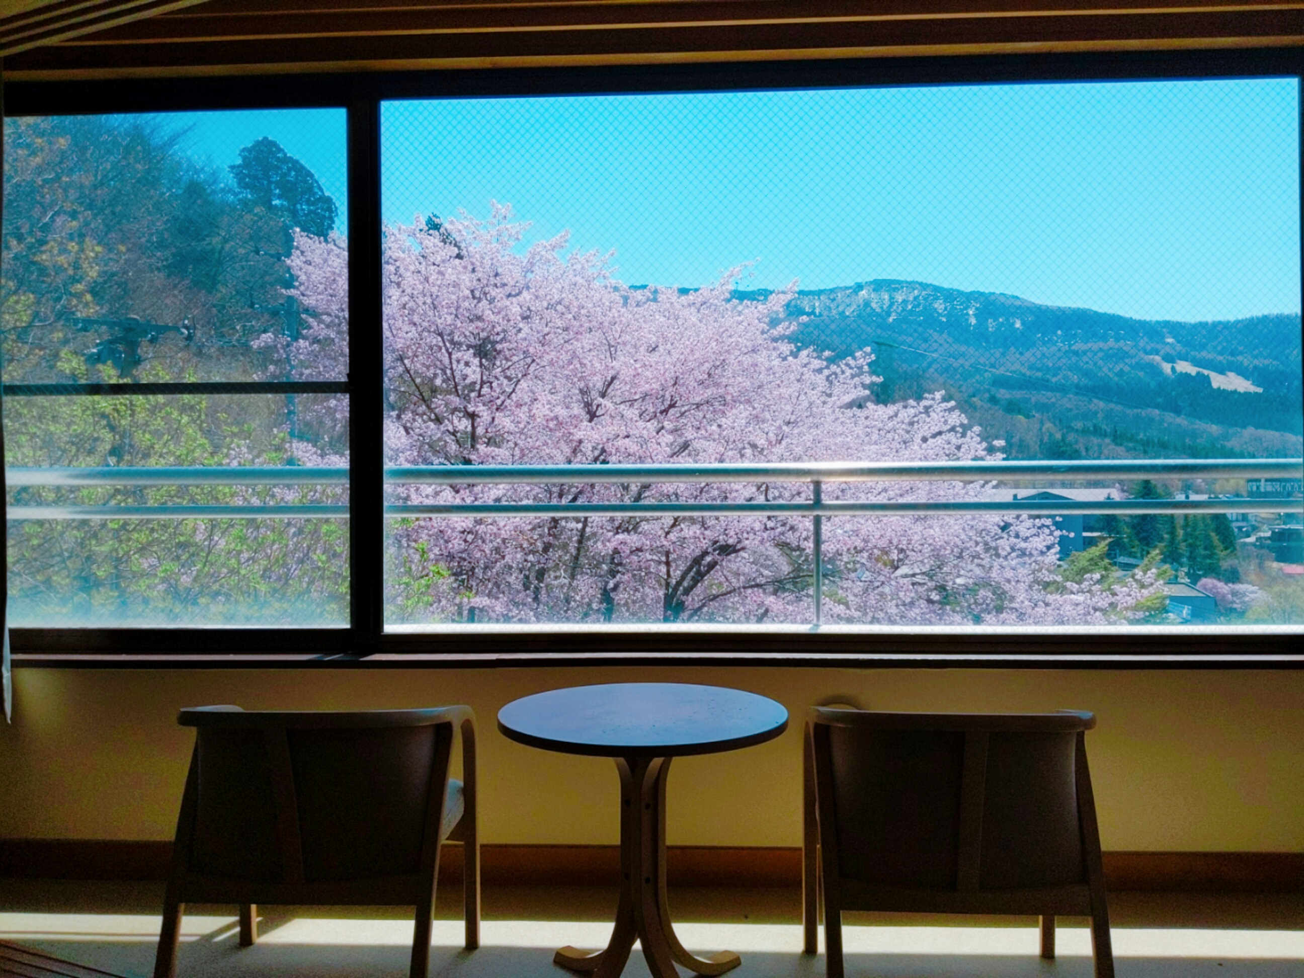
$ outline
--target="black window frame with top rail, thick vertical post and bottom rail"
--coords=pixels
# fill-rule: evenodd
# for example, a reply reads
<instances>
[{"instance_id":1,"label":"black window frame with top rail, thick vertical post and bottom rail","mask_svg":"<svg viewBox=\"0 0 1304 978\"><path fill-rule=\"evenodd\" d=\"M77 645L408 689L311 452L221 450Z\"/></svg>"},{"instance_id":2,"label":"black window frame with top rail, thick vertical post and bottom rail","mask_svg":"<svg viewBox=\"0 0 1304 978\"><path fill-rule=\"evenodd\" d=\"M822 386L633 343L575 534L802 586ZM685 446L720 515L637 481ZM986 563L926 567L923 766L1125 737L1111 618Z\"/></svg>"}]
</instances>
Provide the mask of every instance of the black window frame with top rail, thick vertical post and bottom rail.
<instances>
[{"instance_id":1,"label":"black window frame with top rail, thick vertical post and bottom rail","mask_svg":"<svg viewBox=\"0 0 1304 978\"><path fill-rule=\"evenodd\" d=\"M14 629L16 665L519 666L526 664L1295 668L1290 631L1041 629L730 632L512 629L383 630L381 103L509 95L831 89L906 85L1295 77L1304 50L1249 48L642 67L22 81L7 116L344 108L349 213L349 591L344 629ZM1304 132L1304 129L1301 129ZM1304 200L1304 194L1301 194ZM1301 219L1304 226L1304 219ZM1304 265L1304 249L1301 249ZM1304 275L1301 275L1304 278ZM1304 406L1301 406L1304 407Z\"/></svg>"}]
</instances>

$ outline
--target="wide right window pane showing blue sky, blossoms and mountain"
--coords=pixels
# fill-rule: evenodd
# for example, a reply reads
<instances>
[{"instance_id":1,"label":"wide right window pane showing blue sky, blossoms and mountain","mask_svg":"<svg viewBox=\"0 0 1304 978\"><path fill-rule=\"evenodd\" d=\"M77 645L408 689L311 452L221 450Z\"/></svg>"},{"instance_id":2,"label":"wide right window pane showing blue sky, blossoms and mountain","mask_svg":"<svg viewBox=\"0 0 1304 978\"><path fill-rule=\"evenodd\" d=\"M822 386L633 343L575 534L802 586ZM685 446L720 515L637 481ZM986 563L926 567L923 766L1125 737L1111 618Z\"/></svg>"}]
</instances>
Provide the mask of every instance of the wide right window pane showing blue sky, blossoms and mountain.
<instances>
[{"instance_id":1,"label":"wide right window pane showing blue sky, blossoms and mountain","mask_svg":"<svg viewBox=\"0 0 1304 978\"><path fill-rule=\"evenodd\" d=\"M816 569L824 625L1304 621L1297 464L827 481L932 509L823 515L818 561L773 506L808 479L429 471L1299 459L1297 115L1295 78L387 103L390 626L808 623Z\"/></svg>"}]
</instances>

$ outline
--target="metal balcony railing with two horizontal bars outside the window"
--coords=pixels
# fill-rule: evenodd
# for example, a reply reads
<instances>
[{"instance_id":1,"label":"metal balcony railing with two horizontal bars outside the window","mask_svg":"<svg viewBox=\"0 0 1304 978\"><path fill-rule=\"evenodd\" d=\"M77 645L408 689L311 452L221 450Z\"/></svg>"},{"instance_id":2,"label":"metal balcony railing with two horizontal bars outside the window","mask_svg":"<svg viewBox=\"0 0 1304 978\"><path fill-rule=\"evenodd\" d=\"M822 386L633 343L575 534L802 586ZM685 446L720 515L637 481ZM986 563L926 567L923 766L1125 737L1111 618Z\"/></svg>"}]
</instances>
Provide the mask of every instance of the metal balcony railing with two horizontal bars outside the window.
<instances>
[{"instance_id":1,"label":"metal balcony railing with two horizontal bars outside the window","mask_svg":"<svg viewBox=\"0 0 1304 978\"><path fill-rule=\"evenodd\" d=\"M1058 484L1185 480L1300 480L1300 459L1213 459L1154 462L906 462L906 463L772 463L754 466L419 466L385 469L389 485L644 485L669 482L807 482L810 501L752 499L741 502L394 502L390 518L499 516L797 516L812 522L812 591L815 625L822 618L824 516L958 516L966 514L1145 515L1211 512L1301 512L1296 496L1236 496L1204 499L824 499L825 482L975 482ZM10 468L8 485L20 486L323 486L348 485L348 468L232 467L232 468ZM1265 486L1266 488L1266 486ZM12 505L12 520L33 519L344 519L347 503L280 505Z\"/></svg>"}]
</instances>

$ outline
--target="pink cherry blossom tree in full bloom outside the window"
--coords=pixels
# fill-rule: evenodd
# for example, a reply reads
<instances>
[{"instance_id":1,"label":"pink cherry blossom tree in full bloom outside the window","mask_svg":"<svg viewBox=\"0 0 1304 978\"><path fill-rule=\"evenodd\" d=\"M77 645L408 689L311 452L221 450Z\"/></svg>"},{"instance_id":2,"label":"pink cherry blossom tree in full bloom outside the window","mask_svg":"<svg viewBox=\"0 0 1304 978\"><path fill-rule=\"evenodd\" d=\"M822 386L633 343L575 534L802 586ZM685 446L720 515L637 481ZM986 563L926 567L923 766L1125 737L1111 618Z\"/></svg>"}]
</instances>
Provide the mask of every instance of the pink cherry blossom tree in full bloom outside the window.
<instances>
[{"instance_id":1,"label":"pink cherry blossom tree in full bloom outside the window","mask_svg":"<svg viewBox=\"0 0 1304 978\"><path fill-rule=\"evenodd\" d=\"M874 402L868 351L829 363L776 323L792 292L739 301L734 269L698 289L630 288L566 236L522 246L506 207L484 222L386 228L389 464L940 462L999 459L941 394ZM299 376L344 343L344 243L299 236L295 295L314 326ZM338 416L338 411L336 411ZM961 482L828 484L825 499L975 499ZM741 502L808 485L406 485L390 499ZM785 516L391 522L402 621L805 622L811 520ZM1065 579L1048 520L1001 515L824 520L827 622L1101 623L1157 592ZM1151 602L1153 604L1153 602Z\"/></svg>"}]
</instances>

